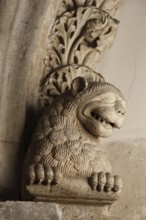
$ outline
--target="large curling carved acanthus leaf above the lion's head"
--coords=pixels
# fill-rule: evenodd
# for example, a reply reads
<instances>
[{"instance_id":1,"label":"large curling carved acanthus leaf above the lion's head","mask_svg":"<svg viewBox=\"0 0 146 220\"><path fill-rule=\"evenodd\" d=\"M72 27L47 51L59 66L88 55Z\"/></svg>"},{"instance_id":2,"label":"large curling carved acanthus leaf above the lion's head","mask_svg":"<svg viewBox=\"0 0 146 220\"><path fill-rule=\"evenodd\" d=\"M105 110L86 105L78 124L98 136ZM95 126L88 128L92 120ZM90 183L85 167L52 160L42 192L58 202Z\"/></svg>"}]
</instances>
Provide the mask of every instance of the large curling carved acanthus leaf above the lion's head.
<instances>
[{"instance_id":1,"label":"large curling carved acanthus leaf above the lion's head","mask_svg":"<svg viewBox=\"0 0 146 220\"><path fill-rule=\"evenodd\" d=\"M117 25L117 20L93 6L65 12L49 37L44 77L73 63L96 69L99 57L112 45Z\"/></svg>"}]
</instances>

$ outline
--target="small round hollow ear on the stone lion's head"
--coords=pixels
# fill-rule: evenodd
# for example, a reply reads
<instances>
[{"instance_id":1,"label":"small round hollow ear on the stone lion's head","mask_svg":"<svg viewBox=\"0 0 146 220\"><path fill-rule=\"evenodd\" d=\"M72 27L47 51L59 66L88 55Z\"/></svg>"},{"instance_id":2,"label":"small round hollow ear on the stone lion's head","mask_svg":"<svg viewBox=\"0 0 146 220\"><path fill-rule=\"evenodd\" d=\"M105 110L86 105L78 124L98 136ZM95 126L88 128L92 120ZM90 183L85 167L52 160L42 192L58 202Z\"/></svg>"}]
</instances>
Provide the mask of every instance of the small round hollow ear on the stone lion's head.
<instances>
[{"instance_id":1,"label":"small round hollow ear on the stone lion's head","mask_svg":"<svg viewBox=\"0 0 146 220\"><path fill-rule=\"evenodd\" d=\"M76 77L71 83L71 89L75 92L82 92L88 86L88 81L83 77Z\"/></svg>"}]
</instances>

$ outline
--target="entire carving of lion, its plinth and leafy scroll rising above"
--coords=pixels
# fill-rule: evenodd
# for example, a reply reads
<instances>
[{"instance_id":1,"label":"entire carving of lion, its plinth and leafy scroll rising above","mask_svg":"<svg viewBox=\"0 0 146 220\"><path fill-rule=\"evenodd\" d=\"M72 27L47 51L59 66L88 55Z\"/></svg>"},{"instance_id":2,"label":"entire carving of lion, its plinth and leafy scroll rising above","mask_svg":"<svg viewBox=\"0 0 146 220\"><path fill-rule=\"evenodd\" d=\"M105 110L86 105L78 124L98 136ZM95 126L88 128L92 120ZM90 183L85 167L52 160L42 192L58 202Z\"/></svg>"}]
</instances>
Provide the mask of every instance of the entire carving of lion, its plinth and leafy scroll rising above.
<instances>
[{"instance_id":1,"label":"entire carving of lion, its plinth and leafy scroll rising above","mask_svg":"<svg viewBox=\"0 0 146 220\"><path fill-rule=\"evenodd\" d=\"M39 200L83 203L92 197L94 203L99 192L105 192L102 199L110 203L122 188L99 138L122 127L126 102L119 89L95 71L114 40L118 21L109 13L120 3L62 2L49 36L39 89L45 110L24 165L25 188Z\"/></svg>"}]
</instances>

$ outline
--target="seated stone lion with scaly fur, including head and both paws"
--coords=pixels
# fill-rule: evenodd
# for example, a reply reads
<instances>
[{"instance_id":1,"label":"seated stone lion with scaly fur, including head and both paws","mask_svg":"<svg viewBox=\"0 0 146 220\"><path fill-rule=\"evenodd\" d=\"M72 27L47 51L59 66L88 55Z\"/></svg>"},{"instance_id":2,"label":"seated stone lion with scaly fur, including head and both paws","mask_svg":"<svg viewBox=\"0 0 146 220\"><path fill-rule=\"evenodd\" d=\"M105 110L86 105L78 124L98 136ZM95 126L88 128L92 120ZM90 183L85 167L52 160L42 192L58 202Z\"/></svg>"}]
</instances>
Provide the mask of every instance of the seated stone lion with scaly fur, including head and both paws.
<instances>
[{"instance_id":1,"label":"seated stone lion with scaly fur, including head and both paws","mask_svg":"<svg viewBox=\"0 0 146 220\"><path fill-rule=\"evenodd\" d=\"M112 135L125 119L126 103L113 85L83 77L46 108L25 162L27 184L57 184L63 176L84 176L92 189L120 191L100 137Z\"/></svg>"}]
</instances>

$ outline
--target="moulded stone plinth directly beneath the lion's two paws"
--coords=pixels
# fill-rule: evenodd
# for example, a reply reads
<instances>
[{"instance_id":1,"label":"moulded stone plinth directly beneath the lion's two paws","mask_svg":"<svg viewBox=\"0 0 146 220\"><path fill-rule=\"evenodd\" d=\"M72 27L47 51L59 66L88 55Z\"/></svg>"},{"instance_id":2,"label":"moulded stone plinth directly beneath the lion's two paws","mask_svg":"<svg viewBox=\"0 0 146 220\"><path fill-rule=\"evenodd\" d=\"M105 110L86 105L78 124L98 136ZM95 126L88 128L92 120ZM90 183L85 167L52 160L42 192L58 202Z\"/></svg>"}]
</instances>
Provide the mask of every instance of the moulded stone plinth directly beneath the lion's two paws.
<instances>
[{"instance_id":1,"label":"moulded stone plinth directly beneath the lion's two paws","mask_svg":"<svg viewBox=\"0 0 146 220\"><path fill-rule=\"evenodd\" d=\"M118 199L114 192L92 190L85 177L64 177L57 185L27 185L26 191L34 201L81 205L110 205Z\"/></svg>"}]
</instances>

